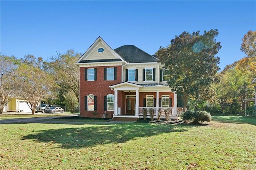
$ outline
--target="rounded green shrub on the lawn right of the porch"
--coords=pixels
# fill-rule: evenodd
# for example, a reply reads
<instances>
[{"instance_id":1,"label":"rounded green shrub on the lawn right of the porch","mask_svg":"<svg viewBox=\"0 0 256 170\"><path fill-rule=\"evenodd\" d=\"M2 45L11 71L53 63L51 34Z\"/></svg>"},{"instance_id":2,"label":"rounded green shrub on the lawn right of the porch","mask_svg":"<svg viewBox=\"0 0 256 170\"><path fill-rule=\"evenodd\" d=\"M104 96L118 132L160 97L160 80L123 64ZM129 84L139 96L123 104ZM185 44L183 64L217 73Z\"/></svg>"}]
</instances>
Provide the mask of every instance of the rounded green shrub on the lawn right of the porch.
<instances>
[{"instance_id":1,"label":"rounded green shrub on the lawn right of the porch","mask_svg":"<svg viewBox=\"0 0 256 170\"><path fill-rule=\"evenodd\" d=\"M186 111L181 117L184 121L192 121L193 123L210 122L212 120L211 114L206 111Z\"/></svg>"}]
</instances>

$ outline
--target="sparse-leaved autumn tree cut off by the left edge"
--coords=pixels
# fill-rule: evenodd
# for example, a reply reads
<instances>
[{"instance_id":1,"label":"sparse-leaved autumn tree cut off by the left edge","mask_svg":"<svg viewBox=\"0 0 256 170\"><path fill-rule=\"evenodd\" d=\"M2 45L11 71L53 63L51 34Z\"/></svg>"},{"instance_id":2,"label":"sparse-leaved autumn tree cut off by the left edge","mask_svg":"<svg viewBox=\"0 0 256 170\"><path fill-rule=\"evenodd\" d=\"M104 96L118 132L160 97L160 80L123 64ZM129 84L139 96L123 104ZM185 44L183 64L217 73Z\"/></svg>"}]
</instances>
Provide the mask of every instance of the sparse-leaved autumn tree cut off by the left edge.
<instances>
[{"instance_id":1,"label":"sparse-leaved autumn tree cut off by the left edge","mask_svg":"<svg viewBox=\"0 0 256 170\"><path fill-rule=\"evenodd\" d=\"M3 114L4 106L19 93L18 63L14 56L0 55L0 115Z\"/></svg>"}]
</instances>

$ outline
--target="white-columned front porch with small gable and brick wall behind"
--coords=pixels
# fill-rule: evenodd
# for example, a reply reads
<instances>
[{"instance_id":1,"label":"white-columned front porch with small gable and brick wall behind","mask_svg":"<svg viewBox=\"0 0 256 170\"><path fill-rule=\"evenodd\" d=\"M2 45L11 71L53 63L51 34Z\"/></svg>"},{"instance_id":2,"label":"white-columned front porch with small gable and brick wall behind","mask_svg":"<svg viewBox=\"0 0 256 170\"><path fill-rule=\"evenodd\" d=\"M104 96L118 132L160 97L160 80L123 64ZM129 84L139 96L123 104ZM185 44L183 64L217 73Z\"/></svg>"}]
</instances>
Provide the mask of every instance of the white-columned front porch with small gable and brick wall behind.
<instances>
[{"instance_id":1,"label":"white-columned front porch with small gable and brick wall behind","mask_svg":"<svg viewBox=\"0 0 256 170\"><path fill-rule=\"evenodd\" d=\"M112 85L113 119L178 119L177 94L164 84Z\"/></svg>"}]
</instances>

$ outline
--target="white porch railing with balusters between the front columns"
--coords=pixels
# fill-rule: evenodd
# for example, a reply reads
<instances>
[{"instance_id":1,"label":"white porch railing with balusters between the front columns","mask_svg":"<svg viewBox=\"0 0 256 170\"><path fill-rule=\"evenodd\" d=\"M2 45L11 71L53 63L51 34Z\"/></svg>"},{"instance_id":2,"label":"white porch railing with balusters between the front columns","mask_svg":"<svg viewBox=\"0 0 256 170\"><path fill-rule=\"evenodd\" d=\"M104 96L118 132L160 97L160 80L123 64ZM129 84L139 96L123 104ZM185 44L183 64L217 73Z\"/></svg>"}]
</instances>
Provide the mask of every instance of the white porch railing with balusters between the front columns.
<instances>
[{"instance_id":1,"label":"white porch railing with balusters between the front columns","mask_svg":"<svg viewBox=\"0 0 256 170\"><path fill-rule=\"evenodd\" d=\"M173 113L173 107L159 107L158 110L156 107L139 107L139 115L143 115L144 112L147 113L147 116L150 116L150 113L153 113L154 116L157 116L158 114L160 114L160 116L176 116Z\"/></svg>"}]
</instances>

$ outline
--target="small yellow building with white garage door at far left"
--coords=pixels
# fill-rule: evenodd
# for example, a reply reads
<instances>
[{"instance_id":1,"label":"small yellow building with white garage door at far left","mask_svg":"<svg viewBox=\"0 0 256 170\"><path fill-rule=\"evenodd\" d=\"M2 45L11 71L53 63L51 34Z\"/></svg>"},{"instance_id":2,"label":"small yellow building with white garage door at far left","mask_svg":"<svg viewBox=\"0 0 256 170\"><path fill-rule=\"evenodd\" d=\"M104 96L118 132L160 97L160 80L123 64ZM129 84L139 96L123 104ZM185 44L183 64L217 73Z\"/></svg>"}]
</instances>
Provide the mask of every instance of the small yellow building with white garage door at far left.
<instances>
[{"instance_id":1,"label":"small yellow building with white garage door at far left","mask_svg":"<svg viewBox=\"0 0 256 170\"><path fill-rule=\"evenodd\" d=\"M29 104L30 105L30 104ZM14 97L9 103L4 107L4 112L26 112L32 113L28 103L19 97Z\"/></svg>"}]
</instances>

